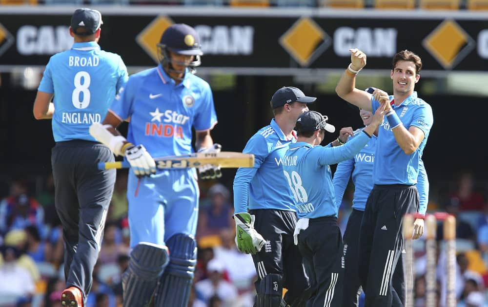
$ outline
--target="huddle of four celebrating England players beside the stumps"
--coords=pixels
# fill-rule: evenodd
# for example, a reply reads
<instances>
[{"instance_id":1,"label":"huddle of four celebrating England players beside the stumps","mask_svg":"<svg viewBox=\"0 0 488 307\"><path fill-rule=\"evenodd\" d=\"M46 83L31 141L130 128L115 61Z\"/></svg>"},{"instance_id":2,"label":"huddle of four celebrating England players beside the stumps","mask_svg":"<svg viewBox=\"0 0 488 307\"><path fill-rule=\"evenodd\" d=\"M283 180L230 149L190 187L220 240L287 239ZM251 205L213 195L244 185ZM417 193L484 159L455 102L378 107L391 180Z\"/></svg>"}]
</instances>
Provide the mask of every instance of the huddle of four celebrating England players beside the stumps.
<instances>
[{"instance_id":1,"label":"huddle of four celebrating England players beside the stumps","mask_svg":"<svg viewBox=\"0 0 488 307\"><path fill-rule=\"evenodd\" d=\"M389 96L355 88L366 55L350 52L336 92L359 107L364 128L343 128L321 146L335 127L308 110L314 97L283 87L271 98L270 125L244 148L256 164L236 174L234 217L238 248L253 254L258 272L256 307L358 306L361 290L367 307L406 304L405 274L412 268L403 266L400 228L405 214L427 211L421 158L433 123L430 106L414 92L422 62L407 50L394 56ZM351 176L353 211L343 236L337 217ZM419 238L423 219L413 229Z\"/></svg>"}]
</instances>

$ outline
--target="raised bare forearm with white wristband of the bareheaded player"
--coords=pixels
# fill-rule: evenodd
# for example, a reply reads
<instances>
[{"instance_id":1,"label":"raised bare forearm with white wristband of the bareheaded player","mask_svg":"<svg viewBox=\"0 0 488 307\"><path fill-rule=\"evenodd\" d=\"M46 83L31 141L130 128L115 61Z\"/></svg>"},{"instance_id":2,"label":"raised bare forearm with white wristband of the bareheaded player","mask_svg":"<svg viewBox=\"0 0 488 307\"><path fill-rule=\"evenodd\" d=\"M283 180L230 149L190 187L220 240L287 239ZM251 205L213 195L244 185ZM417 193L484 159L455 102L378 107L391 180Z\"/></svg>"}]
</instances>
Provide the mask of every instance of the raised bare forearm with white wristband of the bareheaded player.
<instances>
[{"instance_id":1,"label":"raised bare forearm with white wristband of the bareheaded player","mask_svg":"<svg viewBox=\"0 0 488 307\"><path fill-rule=\"evenodd\" d=\"M356 88L356 75L366 66L366 54L358 49L349 49L351 64L336 86L336 93L353 105L371 111L371 94Z\"/></svg>"}]
</instances>

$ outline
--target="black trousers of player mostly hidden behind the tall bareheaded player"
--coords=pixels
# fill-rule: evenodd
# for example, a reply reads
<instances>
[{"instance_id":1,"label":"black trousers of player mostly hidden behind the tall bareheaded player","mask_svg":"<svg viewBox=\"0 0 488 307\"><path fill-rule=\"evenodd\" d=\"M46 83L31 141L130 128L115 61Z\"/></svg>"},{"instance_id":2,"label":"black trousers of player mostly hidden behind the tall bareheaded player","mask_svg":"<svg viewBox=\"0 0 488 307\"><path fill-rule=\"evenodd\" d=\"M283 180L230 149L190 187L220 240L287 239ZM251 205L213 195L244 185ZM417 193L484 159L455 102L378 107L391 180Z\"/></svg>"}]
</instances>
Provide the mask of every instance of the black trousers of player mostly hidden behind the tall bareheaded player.
<instances>
[{"instance_id":1,"label":"black trousers of player mostly hidden behind the tall bareheaded player","mask_svg":"<svg viewBox=\"0 0 488 307\"><path fill-rule=\"evenodd\" d=\"M343 301L344 307L358 307L359 296L362 292L359 279L359 234L364 211L353 209L347 220L346 231L344 232L344 258L346 268L344 270ZM403 255L403 254L402 254ZM398 259L397 266L392 277L393 288L401 302L405 302L405 279L403 268L403 257Z\"/></svg>"}]
</instances>

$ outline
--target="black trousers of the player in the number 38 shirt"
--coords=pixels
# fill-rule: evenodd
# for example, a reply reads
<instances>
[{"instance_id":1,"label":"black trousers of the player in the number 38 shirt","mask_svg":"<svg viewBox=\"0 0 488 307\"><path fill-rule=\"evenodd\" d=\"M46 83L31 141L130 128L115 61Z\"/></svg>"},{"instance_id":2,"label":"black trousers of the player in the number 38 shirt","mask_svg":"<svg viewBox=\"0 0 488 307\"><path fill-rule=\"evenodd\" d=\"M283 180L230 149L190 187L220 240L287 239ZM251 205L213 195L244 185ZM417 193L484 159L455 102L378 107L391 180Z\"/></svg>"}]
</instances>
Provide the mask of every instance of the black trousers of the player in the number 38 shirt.
<instances>
[{"instance_id":1,"label":"black trousers of the player in the number 38 shirt","mask_svg":"<svg viewBox=\"0 0 488 307\"><path fill-rule=\"evenodd\" d=\"M342 234L337 218L310 219L298 235L298 248L313 289L307 307L341 307L344 280Z\"/></svg>"}]
</instances>

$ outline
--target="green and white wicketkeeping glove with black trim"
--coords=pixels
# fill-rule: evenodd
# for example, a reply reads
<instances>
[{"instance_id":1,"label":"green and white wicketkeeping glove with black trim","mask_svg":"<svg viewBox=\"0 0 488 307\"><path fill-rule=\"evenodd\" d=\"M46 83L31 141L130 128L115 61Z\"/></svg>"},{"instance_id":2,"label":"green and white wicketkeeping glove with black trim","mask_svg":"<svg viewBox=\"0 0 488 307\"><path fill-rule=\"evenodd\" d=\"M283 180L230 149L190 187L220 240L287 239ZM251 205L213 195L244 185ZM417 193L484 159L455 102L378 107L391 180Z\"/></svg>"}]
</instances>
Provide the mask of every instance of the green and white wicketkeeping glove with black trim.
<instances>
[{"instance_id":1,"label":"green and white wicketkeeping glove with black trim","mask_svg":"<svg viewBox=\"0 0 488 307\"><path fill-rule=\"evenodd\" d=\"M237 249L246 254L255 254L261 250L264 238L254 229L254 215L249 213L236 213L236 245Z\"/></svg>"}]
</instances>

